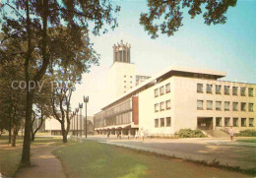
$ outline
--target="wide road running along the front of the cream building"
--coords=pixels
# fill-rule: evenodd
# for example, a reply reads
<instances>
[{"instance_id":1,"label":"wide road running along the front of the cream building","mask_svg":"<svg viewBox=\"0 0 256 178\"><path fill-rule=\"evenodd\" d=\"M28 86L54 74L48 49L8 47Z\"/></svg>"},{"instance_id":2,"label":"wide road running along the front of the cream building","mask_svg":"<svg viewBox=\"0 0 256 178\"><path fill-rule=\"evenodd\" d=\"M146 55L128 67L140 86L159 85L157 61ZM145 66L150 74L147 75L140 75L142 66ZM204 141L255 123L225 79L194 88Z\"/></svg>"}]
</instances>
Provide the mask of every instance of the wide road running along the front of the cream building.
<instances>
[{"instance_id":1,"label":"wide road running along the front of the cream building","mask_svg":"<svg viewBox=\"0 0 256 178\"><path fill-rule=\"evenodd\" d=\"M230 142L228 138L145 139L142 141L134 138L128 140L124 137L120 140L115 137L91 136L88 139L108 145L141 149L177 158L256 170L256 144L235 142L235 140Z\"/></svg>"}]
</instances>

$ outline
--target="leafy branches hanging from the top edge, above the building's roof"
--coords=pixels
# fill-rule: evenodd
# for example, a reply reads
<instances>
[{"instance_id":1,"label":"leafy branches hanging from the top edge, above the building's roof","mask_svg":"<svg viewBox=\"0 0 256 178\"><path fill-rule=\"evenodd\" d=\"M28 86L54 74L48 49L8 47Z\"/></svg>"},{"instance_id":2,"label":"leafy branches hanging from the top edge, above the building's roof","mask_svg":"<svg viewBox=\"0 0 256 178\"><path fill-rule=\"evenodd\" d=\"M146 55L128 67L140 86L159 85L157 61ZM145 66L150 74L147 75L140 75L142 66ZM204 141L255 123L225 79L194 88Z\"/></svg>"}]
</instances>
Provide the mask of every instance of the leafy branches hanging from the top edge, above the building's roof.
<instances>
[{"instance_id":1,"label":"leafy branches hanging from the top edge, above the building's roof","mask_svg":"<svg viewBox=\"0 0 256 178\"><path fill-rule=\"evenodd\" d=\"M142 13L140 24L152 38L160 31L168 36L182 27L183 13L188 10L191 19L203 14L205 24L225 24L229 7L235 7L237 0L148 0L148 13ZM203 9L204 8L204 9ZM203 10L202 10L203 9Z\"/></svg>"}]
</instances>

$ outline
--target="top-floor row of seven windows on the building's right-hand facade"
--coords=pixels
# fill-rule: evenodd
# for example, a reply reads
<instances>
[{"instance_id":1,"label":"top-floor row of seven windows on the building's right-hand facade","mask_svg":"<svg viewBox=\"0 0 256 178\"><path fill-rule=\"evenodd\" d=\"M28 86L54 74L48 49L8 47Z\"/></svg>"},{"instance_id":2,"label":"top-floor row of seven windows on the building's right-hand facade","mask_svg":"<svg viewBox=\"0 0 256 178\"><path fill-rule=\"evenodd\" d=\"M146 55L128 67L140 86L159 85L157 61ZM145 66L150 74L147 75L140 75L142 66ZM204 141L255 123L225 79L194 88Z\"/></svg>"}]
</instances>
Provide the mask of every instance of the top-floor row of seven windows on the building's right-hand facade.
<instances>
[{"instance_id":1,"label":"top-floor row of seven windows on the building's right-hand facade","mask_svg":"<svg viewBox=\"0 0 256 178\"><path fill-rule=\"evenodd\" d=\"M204 85L203 84L197 84L197 92L204 92ZM213 85L206 85L206 92L207 93L213 93ZM215 93L216 94L222 94L222 86L216 85L215 86ZM246 88L240 88L240 95L245 96L246 94ZM230 94L230 87L224 86L224 94L229 95ZM232 95L238 95L238 87L232 87ZM253 96L253 89L248 88L248 95Z\"/></svg>"}]
</instances>

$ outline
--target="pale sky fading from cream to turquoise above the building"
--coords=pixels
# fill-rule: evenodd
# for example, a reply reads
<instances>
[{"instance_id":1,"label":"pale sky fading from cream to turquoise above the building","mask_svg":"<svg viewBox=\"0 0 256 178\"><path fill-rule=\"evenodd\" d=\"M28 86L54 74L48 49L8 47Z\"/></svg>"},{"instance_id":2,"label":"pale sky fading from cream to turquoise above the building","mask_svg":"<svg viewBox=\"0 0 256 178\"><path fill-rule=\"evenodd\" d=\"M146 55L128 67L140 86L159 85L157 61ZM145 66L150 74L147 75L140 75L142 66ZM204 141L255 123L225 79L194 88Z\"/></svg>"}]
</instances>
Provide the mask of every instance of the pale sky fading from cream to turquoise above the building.
<instances>
[{"instance_id":1,"label":"pale sky fading from cream to turquoise above the building","mask_svg":"<svg viewBox=\"0 0 256 178\"><path fill-rule=\"evenodd\" d=\"M131 44L131 61L140 74L181 66L224 71L227 75L223 80L256 84L256 1L238 0L236 7L228 9L225 25L209 27L202 16L194 20L185 16L184 26L174 36L160 35L157 39L151 39L139 25L141 12L147 12L146 1L115 3L121 5L119 28L92 36L100 65L92 67L77 86L71 101L73 110L84 95L90 96L89 115L107 104L106 74L113 61L112 46L121 39Z\"/></svg>"}]
</instances>

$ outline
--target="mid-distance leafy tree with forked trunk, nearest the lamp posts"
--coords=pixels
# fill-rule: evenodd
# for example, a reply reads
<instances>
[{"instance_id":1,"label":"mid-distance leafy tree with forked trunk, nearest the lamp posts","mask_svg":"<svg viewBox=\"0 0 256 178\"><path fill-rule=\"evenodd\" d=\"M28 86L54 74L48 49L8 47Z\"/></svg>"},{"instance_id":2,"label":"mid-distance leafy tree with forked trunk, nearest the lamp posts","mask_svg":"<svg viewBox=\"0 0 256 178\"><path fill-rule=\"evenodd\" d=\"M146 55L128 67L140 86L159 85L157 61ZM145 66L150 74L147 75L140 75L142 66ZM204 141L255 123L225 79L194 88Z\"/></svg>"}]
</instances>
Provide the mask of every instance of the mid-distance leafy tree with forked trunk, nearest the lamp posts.
<instances>
[{"instance_id":1,"label":"mid-distance leafy tree with forked trunk, nearest the lamp posts","mask_svg":"<svg viewBox=\"0 0 256 178\"><path fill-rule=\"evenodd\" d=\"M57 30L58 32L59 30ZM63 42L69 40L69 30L62 28L61 32L51 30L54 35L54 46L51 47L50 59L52 61L49 72L54 89L51 91L51 106L53 117L60 122L63 143L67 143L70 129L71 107L70 100L75 85L81 82L82 74L89 72L92 64L97 64L98 55L93 49L90 38L85 31L81 31L81 42ZM62 60L54 60L60 58Z\"/></svg>"}]
</instances>

